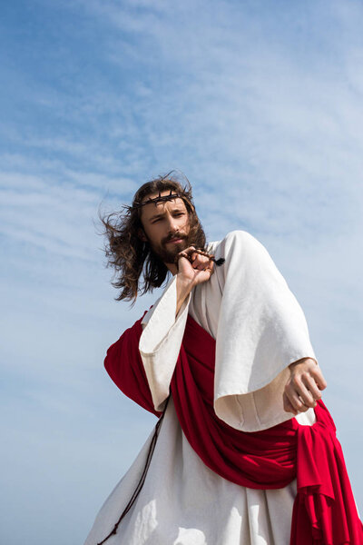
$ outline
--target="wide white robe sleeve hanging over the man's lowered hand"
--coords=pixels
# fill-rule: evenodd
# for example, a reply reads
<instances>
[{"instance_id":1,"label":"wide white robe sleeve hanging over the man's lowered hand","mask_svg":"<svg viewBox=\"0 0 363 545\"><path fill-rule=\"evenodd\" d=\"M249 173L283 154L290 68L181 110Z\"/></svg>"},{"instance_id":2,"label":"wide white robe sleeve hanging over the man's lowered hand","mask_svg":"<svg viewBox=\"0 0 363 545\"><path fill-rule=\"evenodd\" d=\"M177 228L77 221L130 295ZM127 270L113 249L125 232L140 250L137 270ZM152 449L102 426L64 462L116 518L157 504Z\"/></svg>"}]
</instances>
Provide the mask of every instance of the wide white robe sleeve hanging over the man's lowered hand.
<instances>
[{"instance_id":1,"label":"wide white robe sleeve hanging over the man's lowered hand","mask_svg":"<svg viewBox=\"0 0 363 545\"><path fill-rule=\"evenodd\" d=\"M317 358L299 302L264 246L234 231L218 253L226 262L219 271L214 410L233 428L264 430L293 416L283 408L289 364Z\"/></svg>"}]
</instances>

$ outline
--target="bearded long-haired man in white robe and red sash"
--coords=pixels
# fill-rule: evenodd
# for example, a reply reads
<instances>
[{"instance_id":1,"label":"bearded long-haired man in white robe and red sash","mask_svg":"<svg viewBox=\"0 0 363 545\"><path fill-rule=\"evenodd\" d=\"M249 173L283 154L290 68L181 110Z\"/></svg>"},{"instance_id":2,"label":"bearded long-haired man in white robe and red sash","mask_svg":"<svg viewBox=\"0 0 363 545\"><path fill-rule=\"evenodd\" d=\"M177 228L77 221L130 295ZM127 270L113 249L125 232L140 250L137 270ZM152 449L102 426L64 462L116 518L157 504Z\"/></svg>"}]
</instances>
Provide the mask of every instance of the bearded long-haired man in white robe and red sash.
<instances>
[{"instance_id":1,"label":"bearded long-haired man in white robe and red sash","mask_svg":"<svg viewBox=\"0 0 363 545\"><path fill-rule=\"evenodd\" d=\"M107 351L113 381L160 420L85 545L363 542L326 381L269 253L243 231L207 246L170 175L103 224L119 299L172 278Z\"/></svg>"}]
</instances>

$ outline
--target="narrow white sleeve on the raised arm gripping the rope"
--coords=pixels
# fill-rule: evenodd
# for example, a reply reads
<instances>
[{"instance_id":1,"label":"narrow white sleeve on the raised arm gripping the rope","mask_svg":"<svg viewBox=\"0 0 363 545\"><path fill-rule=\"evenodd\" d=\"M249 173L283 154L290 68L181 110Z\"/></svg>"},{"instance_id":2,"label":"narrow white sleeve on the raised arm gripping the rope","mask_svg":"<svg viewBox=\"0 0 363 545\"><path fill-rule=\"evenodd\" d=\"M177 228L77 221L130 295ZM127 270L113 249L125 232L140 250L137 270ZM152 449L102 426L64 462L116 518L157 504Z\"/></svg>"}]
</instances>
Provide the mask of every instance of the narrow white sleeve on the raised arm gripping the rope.
<instances>
[{"instance_id":1,"label":"narrow white sleeve on the raised arm gripping the rope","mask_svg":"<svg viewBox=\"0 0 363 545\"><path fill-rule=\"evenodd\" d=\"M169 396L170 382L182 346L190 301L191 293L176 315L175 275L166 286L162 297L142 321L144 329L139 350L156 411L162 411Z\"/></svg>"}]
</instances>

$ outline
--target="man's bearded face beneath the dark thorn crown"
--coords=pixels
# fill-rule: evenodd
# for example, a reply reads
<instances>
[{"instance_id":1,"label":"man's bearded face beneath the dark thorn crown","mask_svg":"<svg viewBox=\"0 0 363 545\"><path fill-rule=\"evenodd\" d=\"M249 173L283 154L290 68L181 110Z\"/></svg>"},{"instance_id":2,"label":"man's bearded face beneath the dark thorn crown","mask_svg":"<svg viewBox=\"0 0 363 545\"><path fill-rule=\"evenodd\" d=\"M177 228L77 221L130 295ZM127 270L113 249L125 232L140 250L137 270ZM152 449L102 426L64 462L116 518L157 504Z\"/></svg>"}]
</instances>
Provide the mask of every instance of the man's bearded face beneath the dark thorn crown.
<instances>
[{"instance_id":1,"label":"man's bearded face beneath the dark thorn crown","mask_svg":"<svg viewBox=\"0 0 363 545\"><path fill-rule=\"evenodd\" d=\"M168 195L170 190L163 191L162 196ZM159 193L147 195L143 201L158 197ZM190 232L189 214L180 197L163 203L145 204L141 214L142 240L148 241L152 251L163 263L174 263L177 253L190 246L188 235Z\"/></svg>"}]
</instances>

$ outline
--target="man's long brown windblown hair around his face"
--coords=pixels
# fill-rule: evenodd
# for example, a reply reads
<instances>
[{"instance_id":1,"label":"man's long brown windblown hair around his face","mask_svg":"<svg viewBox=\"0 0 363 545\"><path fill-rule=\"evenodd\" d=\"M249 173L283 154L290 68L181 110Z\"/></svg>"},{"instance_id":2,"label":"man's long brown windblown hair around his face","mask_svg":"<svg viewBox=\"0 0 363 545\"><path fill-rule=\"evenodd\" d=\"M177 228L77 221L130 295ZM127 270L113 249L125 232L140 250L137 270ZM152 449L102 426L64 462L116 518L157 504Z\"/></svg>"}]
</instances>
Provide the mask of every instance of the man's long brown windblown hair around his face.
<instances>
[{"instance_id":1,"label":"man's long brown windblown hair around his face","mask_svg":"<svg viewBox=\"0 0 363 545\"><path fill-rule=\"evenodd\" d=\"M116 301L136 301L138 293L141 295L152 292L164 282L168 268L158 255L152 252L148 242L142 242L139 231L142 229L142 209L137 204L151 193L172 190L177 193L185 204L189 215L190 232L189 245L205 250L206 238L201 222L195 212L191 194L191 183L184 176L186 183L178 181L174 171L160 175L150 182L143 183L132 199L132 206L123 205L120 212L108 213L103 216L98 213L103 223L106 236L104 253L107 258L106 267L113 267L115 280L111 282L115 288L121 289ZM143 277L143 280L140 277Z\"/></svg>"}]
</instances>

